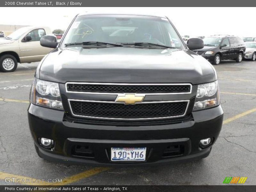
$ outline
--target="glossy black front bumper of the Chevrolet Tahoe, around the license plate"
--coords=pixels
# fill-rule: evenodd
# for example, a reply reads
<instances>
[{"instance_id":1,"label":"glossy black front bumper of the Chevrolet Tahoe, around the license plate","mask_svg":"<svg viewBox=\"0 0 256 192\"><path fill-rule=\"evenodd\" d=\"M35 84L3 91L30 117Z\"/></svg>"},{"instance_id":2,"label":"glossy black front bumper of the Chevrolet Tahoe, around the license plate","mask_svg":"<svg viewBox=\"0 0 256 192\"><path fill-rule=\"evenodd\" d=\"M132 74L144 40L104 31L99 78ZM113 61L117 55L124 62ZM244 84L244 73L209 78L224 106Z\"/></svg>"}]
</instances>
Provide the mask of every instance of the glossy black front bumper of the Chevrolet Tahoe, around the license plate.
<instances>
[{"instance_id":1,"label":"glossy black front bumper of the Chevrolet Tahoe, around the license plate","mask_svg":"<svg viewBox=\"0 0 256 192\"><path fill-rule=\"evenodd\" d=\"M121 125L81 123L65 118L58 111L30 104L28 122L36 150L42 158L62 163L87 165L155 165L196 160L209 155L212 145L199 148L199 141L218 138L223 120L221 106L192 112L189 117L174 123ZM49 150L40 146L38 138L54 140ZM213 144L212 143L212 144ZM77 155L74 146L88 149L86 156ZM164 155L166 148L178 146L172 155ZM111 162L111 147L146 147L144 162Z\"/></svg>"}]
</instances>

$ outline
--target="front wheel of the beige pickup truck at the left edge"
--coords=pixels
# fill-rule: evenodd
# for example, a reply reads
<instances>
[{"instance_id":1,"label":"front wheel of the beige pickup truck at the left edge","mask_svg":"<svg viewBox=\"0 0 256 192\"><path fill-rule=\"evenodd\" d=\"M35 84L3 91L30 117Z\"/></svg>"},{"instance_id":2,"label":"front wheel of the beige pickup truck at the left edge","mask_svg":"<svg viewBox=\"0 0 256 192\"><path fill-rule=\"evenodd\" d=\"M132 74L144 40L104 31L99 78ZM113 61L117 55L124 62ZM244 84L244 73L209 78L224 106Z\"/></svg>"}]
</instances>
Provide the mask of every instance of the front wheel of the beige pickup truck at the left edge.
<instances>
[{"instance_id":1,"label":"front wheel of the beige pickup truck at the left edge","mask_svg":"<svg viewBox=\"0 0 256 192\"><path fill-rule=\"evenodd\" d=\"M18 66L16 58L12 55L3 55L0 57L0 71L12 72L15 71Z\"/></svg>"}]
</instances>

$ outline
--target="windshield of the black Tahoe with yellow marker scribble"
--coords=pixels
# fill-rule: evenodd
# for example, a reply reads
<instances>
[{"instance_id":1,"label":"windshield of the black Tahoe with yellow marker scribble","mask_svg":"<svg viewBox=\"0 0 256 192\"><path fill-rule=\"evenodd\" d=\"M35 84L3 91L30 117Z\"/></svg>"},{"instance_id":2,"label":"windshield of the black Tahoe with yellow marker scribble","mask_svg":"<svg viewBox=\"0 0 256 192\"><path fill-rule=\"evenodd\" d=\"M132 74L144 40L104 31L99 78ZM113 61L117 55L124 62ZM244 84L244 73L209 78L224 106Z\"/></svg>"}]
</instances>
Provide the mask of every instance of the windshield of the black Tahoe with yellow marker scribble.
<instances>
[{"instance_id":1,"label":"windshield of the black Tahoe with yellow marker scribble","mask_svg":"<svg viewBox=\"0 0 256 192\"><path fill-rule=\"evenodd\" d=\"M166 18L134 15L79 16L68 30L62 46L79 42L143 42L185 48Z\"/></svg>"}]
</instances>

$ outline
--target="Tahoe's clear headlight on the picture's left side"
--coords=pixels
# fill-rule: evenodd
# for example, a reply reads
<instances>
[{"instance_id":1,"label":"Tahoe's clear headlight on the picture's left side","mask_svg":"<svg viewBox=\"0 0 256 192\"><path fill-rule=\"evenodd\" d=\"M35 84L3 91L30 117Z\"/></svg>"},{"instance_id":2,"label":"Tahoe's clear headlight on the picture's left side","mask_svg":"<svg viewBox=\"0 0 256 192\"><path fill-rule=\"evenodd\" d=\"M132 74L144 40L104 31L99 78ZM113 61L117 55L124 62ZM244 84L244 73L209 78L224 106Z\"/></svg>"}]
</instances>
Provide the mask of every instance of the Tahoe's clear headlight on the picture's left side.
<instances>
[{"instance_id":1,"label":"Tahoe's clear headlight on the picture's left side","mask_svg":"<svg viewBox=\"0 0 256 192\"><path fill-rule=\"evenodd\" d=\"M30 102L38 106L63 110L59 84L35 79L30 91Z\"/></svg>"}]
</instances>

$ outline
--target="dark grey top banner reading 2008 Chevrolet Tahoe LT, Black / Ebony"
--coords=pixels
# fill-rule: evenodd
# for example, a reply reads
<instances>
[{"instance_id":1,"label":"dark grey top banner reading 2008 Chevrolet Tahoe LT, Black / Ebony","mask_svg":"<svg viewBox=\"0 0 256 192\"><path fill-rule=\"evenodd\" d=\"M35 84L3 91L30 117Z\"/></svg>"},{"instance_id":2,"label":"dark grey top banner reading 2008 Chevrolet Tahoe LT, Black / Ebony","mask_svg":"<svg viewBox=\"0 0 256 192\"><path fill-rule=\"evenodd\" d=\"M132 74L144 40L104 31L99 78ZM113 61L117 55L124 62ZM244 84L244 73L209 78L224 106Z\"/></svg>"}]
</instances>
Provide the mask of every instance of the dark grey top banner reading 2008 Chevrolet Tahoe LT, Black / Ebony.
<instances>
[{"instance_id":1,"label":"dark grey top banner reading 2008 Chevrolet Tahoe LT, Black / Ebony","mask_svg":"<svg viewBox=\"0 0 256 192\"><path fill-rule=\"evenodd\" d=\"M1 0L0 7L255 7L253 0ZM218 10L216 10L216 13Z\"/></svg>"}]
</instances>

